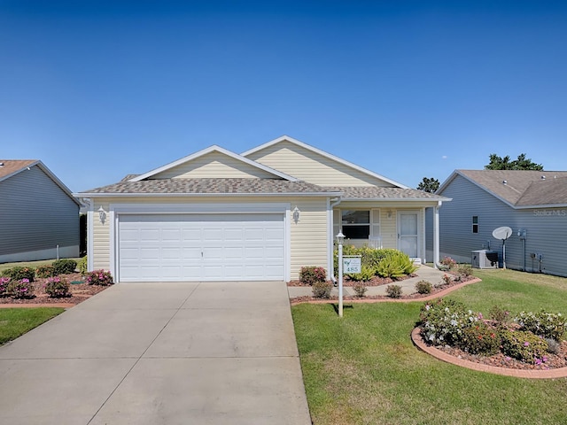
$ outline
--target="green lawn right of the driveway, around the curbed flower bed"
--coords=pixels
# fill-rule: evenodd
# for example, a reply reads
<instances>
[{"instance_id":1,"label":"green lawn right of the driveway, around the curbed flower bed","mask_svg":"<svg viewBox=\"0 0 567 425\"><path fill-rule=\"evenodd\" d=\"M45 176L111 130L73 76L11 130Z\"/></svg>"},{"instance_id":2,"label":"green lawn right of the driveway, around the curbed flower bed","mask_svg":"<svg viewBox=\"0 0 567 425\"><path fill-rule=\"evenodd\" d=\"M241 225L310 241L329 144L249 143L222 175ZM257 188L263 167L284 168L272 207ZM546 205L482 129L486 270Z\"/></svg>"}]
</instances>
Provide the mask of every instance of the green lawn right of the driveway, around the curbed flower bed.
<instances>
[{"instance_id":1,"label":"green lawn right of the driveway, around the curbed flower bed","mask_svg":"<svg viewBox=\"0 0 567 425\"><path fill-rule=\"evenodd\" d=\"M495 304L567 313L567 279L509 270L478 277L447 298L485 314ZM343 319L332 305L292 307L315 425L567 423L567 378L491 375L418 351L409 334L421 305L353 304Z\"/></svg>"}]
</instances>

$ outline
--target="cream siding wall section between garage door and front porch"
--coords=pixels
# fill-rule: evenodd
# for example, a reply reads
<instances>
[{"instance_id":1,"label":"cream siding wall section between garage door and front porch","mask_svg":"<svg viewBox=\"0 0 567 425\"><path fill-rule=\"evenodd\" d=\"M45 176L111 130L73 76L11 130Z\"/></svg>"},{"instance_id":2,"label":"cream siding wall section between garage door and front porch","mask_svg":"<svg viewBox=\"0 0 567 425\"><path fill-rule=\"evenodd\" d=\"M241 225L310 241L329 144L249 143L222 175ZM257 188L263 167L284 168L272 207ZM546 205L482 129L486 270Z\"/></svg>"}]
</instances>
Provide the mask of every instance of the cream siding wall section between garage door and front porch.
<instances>
[{"instance_id":1,"label":"cream siding wall section between garage door and front porch","mask_svg":"<svg viewBox=\"0 0 567 425\"><path fill-rule=\"evenodd\" d=\"M291 280L299 278L303 266L327 269L329 251L326 199L299 199L291 203L291 210L296 205L301 214L297 224L291 220Z\"/></svg>"}]
</instances>

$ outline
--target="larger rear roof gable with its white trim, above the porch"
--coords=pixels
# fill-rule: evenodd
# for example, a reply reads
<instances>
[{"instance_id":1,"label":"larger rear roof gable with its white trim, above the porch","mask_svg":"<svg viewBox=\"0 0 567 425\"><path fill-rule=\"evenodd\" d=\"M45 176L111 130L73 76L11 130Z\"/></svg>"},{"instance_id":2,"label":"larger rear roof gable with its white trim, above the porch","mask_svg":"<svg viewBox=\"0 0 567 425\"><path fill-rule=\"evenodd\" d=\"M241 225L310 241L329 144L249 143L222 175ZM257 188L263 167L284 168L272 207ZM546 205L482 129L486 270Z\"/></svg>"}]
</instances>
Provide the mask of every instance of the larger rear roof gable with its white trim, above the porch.
<instances>
[{"instance_id":1,"label":"larger rear roof gable with its white trim, above the porch","mask_svg":"<svg viewBox=\"0 0 567 425\"><path fill-rule=\"evenodd\" d=\"M399 182L287 135L245 151L242 156L320 186L380 186L408 189Z\"/></svg>"}]
</instances>

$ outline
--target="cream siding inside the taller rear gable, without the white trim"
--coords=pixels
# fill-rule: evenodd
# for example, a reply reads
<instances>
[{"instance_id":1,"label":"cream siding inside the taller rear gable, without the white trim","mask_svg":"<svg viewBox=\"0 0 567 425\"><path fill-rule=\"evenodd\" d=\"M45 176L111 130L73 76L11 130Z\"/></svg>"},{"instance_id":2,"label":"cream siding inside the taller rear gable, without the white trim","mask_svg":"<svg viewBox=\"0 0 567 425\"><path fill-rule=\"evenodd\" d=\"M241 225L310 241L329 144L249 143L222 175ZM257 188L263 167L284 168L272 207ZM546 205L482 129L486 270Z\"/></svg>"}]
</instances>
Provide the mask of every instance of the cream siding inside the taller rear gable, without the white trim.
<instances>
[{"instance_id":1,"label":"cream siding inside the taller rear gable, without the white trim","mask_svg":"<svg viewBox=\"0 0 567 425\"><path fill-rule=\"evenodd\" d=\"M392 187L388 182L289 142L268 146L247 158L320 186Z\"/></svg>"}]
</instances>

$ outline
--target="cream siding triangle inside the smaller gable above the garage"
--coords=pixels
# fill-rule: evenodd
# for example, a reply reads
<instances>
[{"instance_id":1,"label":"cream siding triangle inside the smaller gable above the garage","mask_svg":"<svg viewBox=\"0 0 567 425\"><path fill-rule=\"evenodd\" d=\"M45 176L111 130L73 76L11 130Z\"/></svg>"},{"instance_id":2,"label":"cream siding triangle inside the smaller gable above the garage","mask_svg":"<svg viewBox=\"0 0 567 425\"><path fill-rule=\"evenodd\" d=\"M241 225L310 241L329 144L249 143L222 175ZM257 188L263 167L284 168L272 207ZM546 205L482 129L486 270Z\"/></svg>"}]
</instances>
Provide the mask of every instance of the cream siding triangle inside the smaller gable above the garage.
<instances>
[{"instance_id":1,"label":"cream siding triangle inside the smaller gable above the garage","mask_svg":"<svg viewBox=\"0 0 567 425\"><path fill-rule=\"evenodd\" d=\"M274 174L250 166L221 152L210 152L192 161L175 166L151 179L204 179L204 178L274 178Z\"/></svg>"}]
</instances>

